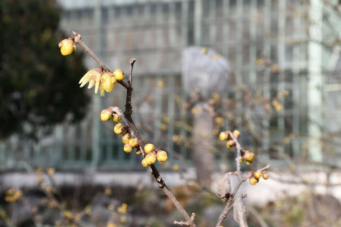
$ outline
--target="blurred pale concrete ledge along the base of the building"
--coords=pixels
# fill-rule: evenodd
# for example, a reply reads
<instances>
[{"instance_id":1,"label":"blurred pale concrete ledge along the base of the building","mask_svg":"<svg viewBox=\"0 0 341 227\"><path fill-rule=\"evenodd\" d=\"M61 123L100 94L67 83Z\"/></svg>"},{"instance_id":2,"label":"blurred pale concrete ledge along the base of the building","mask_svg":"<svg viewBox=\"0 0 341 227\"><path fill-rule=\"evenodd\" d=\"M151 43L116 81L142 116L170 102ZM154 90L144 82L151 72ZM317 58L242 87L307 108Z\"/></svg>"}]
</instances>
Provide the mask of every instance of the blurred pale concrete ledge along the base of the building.
<instances>
[{"instance_id":1,"label":"blurred pale concrete ledge along the base of the building","mask_svg":"<svg viewBox=\"0 0 341 227\"><path fill-rule=\"evenodd\" d=\"M154 183L153 177L149 174L150 170L144 172L95 172L87 171L84 173L55 173L53 178L57 185L72 185L79 187L81 185L120 185L136 187L139 184L142 185L153 185L157 188L157 184ZM183 178L178 172L163 172L161 173L168 187L178 186L186 184L186 179L193 179L195 177L194 169L190 169L188 172L183 174ZM339 173L333 173L330 177L330 184L338 184L332 187L326 187L323 185L326 182L324 173L310 173L306 174L305 179L311 179L311 182L322 183L318 185L307 185L302 184L296 176L292 174L278 175L273 172L269 172L270 178L268 180L260 179L260 182L256 185L251 185L248 181L243 183L239 188L238 192L248 194L245 201L248 204L264 205L269 201L276 201L286 195L297 196L305 193L309 188L313 188L318 194L329 193L341 201L341 182ZM217 182L223 174L216 173L213 176L212 191L216 192ZM275 179L282 179L275 180ZM294 179L294 180L293 180ZM2 189L8 188L35 188L37 187L36 177L33 174L24 172L12 172L0 174L0 182ZM46 181L48 182L48 181ZM231 184L234 187L237 184L237 177L231 176Z\"/></svg>"}]
</instances>

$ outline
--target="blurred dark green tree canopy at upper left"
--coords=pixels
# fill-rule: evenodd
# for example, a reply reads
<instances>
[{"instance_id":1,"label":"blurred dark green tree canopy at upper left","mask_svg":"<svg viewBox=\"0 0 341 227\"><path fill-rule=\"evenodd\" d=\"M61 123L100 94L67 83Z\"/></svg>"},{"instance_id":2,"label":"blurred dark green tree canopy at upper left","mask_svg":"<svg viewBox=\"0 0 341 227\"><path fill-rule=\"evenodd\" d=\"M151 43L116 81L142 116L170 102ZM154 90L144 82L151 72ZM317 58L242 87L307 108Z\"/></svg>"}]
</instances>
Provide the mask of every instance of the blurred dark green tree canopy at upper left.
<instances>
[{"instance_id":1,"label":"blurred dark green tree canopy at upper left","mask_svg":"<svg viewBox=\"0 0 341 227\"><path fill-rule=\"evenodd\" d=\"M58 30L56 1L1 0L0 12L0 138L35 137L66 116L81 119L89 97L78 81L86 68L80 51L60 53L67 36Z\"/></svg>"}]
</instances>

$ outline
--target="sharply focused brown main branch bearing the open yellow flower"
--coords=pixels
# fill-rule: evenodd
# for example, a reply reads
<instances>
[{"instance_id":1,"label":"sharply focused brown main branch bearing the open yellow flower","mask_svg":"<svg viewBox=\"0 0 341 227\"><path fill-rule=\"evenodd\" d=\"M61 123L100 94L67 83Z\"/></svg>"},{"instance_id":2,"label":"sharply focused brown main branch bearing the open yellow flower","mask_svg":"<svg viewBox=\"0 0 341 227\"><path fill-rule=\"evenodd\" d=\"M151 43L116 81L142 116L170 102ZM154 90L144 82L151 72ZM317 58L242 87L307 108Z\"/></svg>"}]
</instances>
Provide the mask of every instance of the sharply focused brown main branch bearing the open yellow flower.
<instances>
[{"instance_id":1,"label":"sharply focused brown main branch bearing the open yellow flower","mask_svg":"<svg viewBox=\"0 0 341 227\"><path fill-rule=\"evenodd\" d=\"M74 36L71 36L74 39L74 42L77 43L79 46L81 46L86 52L90 54L90 56L102 67L105 71L111 71L108 67L104 65L104 63L90 50L90 48L81 40L81 35L73 32ZM132 76L133 76L133 66L136 59L132 58L130 59L130 71L129 71L129 79L128 82L124 81L118 81L123 87L127 89L127 98L125 103L125 111L122 115L118 109L118 107L112 107L110 108L112 111L116 112L123 122L129 126L129 131L132 133L132 135L136 136L136 139L138 141L138 144L140 146L140 150L142 151L143 157L145 157L145 151L144 151L144 142L142 140L142 137L140 136L135 123L132 118L132 106L131 106L131 95L133 91L132 87ZM162 179L159 170L155 167L154 164L150 165L152 175L154 176L156 182L158 183L159 187L162 189L162 191L168 196L168 198L173 202L174 206L178 209L178 211L182 214L182 216L186 219L186 223L188 226L196 226L194 224L194 216L195 213L192 213L192 216L190 217L186 210L181 206L180 202L175 198L172 192L169 191L169 189L166 186L166 183Z\"/></svg>"}]
</instances>

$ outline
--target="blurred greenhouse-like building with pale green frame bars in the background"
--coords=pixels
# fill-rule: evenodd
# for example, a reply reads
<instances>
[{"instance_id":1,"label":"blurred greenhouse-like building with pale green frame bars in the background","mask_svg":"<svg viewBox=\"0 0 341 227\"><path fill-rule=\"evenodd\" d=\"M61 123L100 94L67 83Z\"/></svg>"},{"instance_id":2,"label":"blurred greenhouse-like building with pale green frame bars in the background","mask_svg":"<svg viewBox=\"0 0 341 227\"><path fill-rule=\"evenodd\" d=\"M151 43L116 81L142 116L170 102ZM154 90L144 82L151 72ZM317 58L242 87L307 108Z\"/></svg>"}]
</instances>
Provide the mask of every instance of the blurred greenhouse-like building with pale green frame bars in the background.
<instances>
[{"instance_id":1,"label":"blurred greenhouse-like building with pale green frame bars in the background","mask_svg":"<svg viewBox=\"0 0 341 227\"><path fill-rule=\"evenodd\" d=\"M191 162L190 146L177 145L172 136L188 135L185 127L176 124L179 120L190 123L191 118L179 104L186 99L181 88L181 51L203 46L220 52L235 71L223 96L235 97L235 87L241 84L261 90L264 98L288 91L282 99L283 110L270 117L265 110L253 115L264 128L263 157L277 162L279 151L270 145L278 145L291 157L309 147L314 161L338 164L337 141L321 146L321 138L328 140L328 135L340 130L341 119L341 60L339 49L334 48L340 15L324 1L58 2L64 9L60 29L81 34L109 68L127 74L129 59L137 59L133 102L143 104L133 106L133 111L138 127L152 128L145 133L146 142L168 146ZM88 55L86 65L97 67ZM146 94L150 105L142 102ZM57 126L46 140L24 146L24 153L37 163L57 168L138 168L140 158L123 152L121 138L112 131L114 125L99 119L100 110L109 106L124 110L124 89L116 85L105 98L92 97L91 109L80 124ZM165 119L170 119L167 127L162 125ZM285 138L289 141L283 143ZM0 159L2 169L18 167L11 152L5 148L0 152L6 157ZM173 158L169 156L170 161Z\"/></svg>"}]
</instances>

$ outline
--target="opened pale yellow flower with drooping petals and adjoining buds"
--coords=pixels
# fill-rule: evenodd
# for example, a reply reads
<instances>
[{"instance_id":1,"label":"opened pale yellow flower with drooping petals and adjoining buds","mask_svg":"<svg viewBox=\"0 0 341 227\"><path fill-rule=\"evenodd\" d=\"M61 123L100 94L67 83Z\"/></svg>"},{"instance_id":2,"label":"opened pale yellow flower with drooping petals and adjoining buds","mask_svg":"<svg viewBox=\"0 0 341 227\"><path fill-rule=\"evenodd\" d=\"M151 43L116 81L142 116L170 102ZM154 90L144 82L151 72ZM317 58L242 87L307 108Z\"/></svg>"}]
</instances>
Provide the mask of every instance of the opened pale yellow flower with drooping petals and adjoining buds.
<instances>
[{"instance_id":1,"label":"opened pale yellow flower with drooping petals and adjoining buds","mask_svg":"<svg viewBox=\"0 0 341 227\"><path fill-rule=\"evenodd\" d=\"M114 89L116 81L124 79L124 72L116 69L113 73L104 72L102 68L90 68L90 70L79 80L80 87L83 87L89 82L88 88L95 86L95 94L98 90L100 96L104 97L104 92L111 92Z\"/></svg>"}]
</instances>

